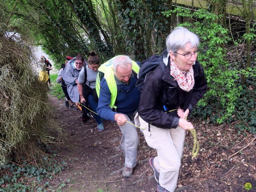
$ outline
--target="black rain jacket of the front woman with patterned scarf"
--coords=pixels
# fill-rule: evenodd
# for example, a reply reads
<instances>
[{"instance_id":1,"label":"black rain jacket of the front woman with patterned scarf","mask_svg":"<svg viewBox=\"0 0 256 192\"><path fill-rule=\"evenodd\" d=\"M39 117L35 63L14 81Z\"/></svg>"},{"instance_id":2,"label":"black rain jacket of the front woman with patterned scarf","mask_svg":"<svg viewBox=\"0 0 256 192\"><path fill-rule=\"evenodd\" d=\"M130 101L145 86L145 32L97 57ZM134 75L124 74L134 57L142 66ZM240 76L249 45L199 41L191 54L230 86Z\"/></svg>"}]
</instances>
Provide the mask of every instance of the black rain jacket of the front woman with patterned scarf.
<instances>
[{"instance_id":1,"label":"black rain jacket of the front woman with patterned scarf","mask_svg":"<svg viewBox=\"0 0 256 192\"><path fill-rule=\"evenodd\" d=\"M165 50L162 58L168 58ZM193 65L195 84L190 92L182 90L174 77L170 75L170 59L168 64L164 65L164 72L157 66L154 71L148 72L144 88L140 95L140 104L138 108L139 116L146 122L159 128L176 128L179 117L177 111L165 113L164 105L167 111L182 108L184 111L188 108L190 112L198 101L204 96L207 90L207 81L204 75L202 65L196 60Z\"/></svg>"}]
</instances>

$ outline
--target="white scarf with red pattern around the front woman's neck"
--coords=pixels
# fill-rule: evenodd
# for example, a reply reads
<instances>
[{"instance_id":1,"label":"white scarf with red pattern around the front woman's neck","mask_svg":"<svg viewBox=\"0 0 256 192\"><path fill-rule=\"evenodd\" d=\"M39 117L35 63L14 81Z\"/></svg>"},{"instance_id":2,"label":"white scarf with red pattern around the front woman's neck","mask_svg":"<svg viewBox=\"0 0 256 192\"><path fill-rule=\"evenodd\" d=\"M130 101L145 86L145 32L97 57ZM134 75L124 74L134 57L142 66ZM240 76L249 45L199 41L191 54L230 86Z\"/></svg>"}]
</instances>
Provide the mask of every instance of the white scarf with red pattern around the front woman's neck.
<instances>
[{"instance_id":1,"label":"white scarf with red pattern around the front woman's neck","mask_svg":"<svg viewBox=\"0 0 256 192\"><path fill-rule=\"evenodd\" d=\"M190 70L180 70L178 66L174 63L172 58L170 58L170 74L174 77L174 79L178 82L180 88L186 92L190 92L194 87L194 70L191 67Z\"/></svg>"}]
</instances>

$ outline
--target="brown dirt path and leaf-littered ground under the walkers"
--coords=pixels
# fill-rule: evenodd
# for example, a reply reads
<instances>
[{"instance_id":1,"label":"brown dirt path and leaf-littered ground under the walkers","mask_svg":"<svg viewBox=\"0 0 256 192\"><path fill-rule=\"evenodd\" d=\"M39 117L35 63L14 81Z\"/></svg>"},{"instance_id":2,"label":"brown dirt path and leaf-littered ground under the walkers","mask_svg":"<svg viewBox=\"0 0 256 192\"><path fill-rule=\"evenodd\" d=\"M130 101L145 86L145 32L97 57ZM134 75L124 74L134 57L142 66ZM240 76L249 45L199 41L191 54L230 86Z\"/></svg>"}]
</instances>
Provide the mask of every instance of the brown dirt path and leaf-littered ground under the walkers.
<instances>
[{"instance_id":1,"label":"brown dirt path and leaf-littered ground under the walkers","mask_svg":"<svg viewBox=\"0 0 256 192\"><path fill-rule=\"evenodd\" d=\"M65 183L63 192L154 192L156 181L148 159L156 155L139 134L138 164L131 178L122 177L124 157L117 147L121 132L113 122L104 122L106 131L98 132L96 122L80 120L80 111L65 108L63 100L52 97L56 118L70 134L70 140L56 149L67 167L51 180L51 186ZM230 125L194 122L200 142L198 157L192 160L193 138L187 132L178 186L179 192L256 191L255 135L238 134ZM252 188L244 185L250 182Z\"/></svg>"}]
</instances>

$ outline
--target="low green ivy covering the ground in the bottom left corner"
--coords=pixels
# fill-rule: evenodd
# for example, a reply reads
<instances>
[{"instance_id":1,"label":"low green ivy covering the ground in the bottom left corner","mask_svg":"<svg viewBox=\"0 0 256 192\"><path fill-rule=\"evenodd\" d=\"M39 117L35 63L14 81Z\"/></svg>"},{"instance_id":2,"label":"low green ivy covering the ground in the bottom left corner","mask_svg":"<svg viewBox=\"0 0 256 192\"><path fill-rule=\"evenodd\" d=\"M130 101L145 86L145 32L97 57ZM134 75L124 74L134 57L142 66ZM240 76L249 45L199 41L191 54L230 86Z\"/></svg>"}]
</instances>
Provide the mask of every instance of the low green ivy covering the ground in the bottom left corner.
<instances>
[{"instance_id":1,"label":"low green ivy covering the ground in the bottom left corner","mask_svg":"<svg viewBox=\"0 0 256 192\"><path fill-rule=\"evenodd\" d=\"M48 190L58 191L66 185L62 181L56 189L50 186L50 180L55 174L61 172L67 165L66 162L57 162L56 160L44 157L44 162L47 165L31 165L23 161L22 165L17 165L12 162L7 162L5 165L0 166L2 174L0 177L0 191L8 192L26 192L38 191L46 192Z\"/></svg>"}]
</instances>

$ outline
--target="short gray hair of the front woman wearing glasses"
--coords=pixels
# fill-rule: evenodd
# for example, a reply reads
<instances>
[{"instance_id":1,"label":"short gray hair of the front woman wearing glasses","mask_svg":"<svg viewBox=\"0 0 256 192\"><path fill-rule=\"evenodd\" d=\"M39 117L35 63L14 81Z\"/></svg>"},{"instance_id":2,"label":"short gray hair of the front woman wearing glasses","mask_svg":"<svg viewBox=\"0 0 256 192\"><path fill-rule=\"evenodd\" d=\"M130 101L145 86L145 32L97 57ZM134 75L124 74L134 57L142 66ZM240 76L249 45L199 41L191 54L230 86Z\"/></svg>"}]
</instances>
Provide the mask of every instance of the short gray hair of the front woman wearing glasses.
<instances>
[{"instance_id":1,"label":"short gray hair of the front woman wearing glasses","mask_svg":"<svg viewBox=\"0 0 256 192\"><path fill-rule=\"evenodd\" d=\"M176 27L166 38L167 51L169 53L184 49L188 42L191 43L191 47L199 46L199 38L196 34L184 27Z\"/></svg>"}]
</instances>

